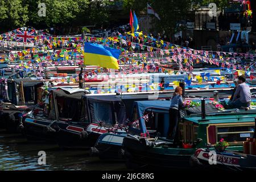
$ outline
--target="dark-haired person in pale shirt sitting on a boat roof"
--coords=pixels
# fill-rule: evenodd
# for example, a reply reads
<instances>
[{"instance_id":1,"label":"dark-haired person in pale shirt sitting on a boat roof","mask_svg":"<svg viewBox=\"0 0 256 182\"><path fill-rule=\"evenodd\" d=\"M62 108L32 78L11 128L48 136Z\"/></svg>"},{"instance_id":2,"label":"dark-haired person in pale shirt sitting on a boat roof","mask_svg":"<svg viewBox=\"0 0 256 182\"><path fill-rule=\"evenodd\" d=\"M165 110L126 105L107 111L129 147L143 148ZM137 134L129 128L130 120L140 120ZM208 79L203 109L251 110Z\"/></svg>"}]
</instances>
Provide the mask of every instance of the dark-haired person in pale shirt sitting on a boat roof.
<instances>
[{"instance_id":1,"label":"dark-haired person in pale shirt sitting on a boat roof","mask_svg":"<svg viewBox=\"0 0 256 182\"><path fill-rule=\"evenodd\" d=\"M233 100L230 102L234 108L240 109L241 107L249 107L251 104L250 87L245 83L244 76L238 77L238 85L234 93Z\"/></svg>"}]
</instances>

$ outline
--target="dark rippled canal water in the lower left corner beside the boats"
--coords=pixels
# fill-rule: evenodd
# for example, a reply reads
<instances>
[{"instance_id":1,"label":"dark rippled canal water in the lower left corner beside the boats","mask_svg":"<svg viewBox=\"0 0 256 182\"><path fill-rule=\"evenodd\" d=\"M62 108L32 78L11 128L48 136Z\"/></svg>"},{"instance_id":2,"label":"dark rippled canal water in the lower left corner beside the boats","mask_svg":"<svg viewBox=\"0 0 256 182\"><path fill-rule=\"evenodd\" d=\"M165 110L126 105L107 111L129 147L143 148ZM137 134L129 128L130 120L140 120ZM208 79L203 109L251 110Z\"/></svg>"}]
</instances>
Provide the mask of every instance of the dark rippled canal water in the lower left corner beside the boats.
<instances>
[{"instance_id":1,"label":"dark rippled canal water in the lower left corner beside the boats","mask_svg":"<svg viewBox=\"0 0 256 182\"><path fill-rule=\"evenodd\" d=\"M39 165L39 151L46 152L46 165ZM28 141L20 134L0 130L1 170L125 170L125 164L104 162L86 150L61 150L56 144Z\"/></svg>"}]
</instances>

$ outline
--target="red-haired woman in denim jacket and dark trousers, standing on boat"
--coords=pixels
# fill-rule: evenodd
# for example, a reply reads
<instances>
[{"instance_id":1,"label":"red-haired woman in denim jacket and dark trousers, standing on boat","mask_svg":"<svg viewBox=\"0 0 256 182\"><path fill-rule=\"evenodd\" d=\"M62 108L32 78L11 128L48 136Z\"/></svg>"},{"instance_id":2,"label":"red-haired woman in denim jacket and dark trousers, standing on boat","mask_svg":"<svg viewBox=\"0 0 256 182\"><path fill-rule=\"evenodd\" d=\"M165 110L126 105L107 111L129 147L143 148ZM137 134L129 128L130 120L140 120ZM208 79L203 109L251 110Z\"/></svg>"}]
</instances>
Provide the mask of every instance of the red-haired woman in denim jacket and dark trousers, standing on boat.
<instances>
[{"instance_id":1,"label":"red-haired woman in denim jacket and dark trousers, standing on boat","mask_svg":"<svg viewBox=\"0 0 256 182\"><path fill-rule=\"evenodd\" d=\"M177 141L178 133L178 122L179 122L179 109L182 106L182 88L177 86L174 92L174 96L171 100L171 106L169 110L169 131L168 139L173 139L174 142Z\"/></svg>"}]
</instances>

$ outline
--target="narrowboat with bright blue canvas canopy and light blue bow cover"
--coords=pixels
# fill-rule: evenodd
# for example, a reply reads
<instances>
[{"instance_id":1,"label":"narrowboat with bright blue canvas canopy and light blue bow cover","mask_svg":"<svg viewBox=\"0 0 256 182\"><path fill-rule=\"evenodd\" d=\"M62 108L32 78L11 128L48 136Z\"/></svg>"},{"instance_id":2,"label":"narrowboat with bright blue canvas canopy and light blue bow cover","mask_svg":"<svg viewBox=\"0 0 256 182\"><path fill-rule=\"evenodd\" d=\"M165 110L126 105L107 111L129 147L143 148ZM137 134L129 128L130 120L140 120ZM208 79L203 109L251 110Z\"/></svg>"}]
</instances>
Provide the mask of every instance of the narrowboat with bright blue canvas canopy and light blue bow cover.
<instances>
[{"instance_id":1,"label":"narrowboat with bright blue canvas canopy and light blue bow cover","mask_svg":"<svg viewBox=\"0 0 256 182\"><path fill-rule=\"evenodd\" d=\"M156 137L159 134L161 136L166 136L168 132L168 123L169 123L167 118L168 115L163 113L157 113L157 111L167 112L170 108L170 104L171 104L171 101L167 101L167 100L135 101L133 104L130 121L137 122L137 127L135 127L136 125L134 125L133 122L128 123L127 125L129 126L129 129L127 131L127 134L141 135L142 133L148 132L148 134L151 137L153 136ZM154 111L156 112L156 115L157 115L155 116L156 117L155 123L152 121L152 119L149 119L149 122L148 122L148 118L144 117L144 115L150 115L151 112L154 113ZM213 105L207 104L206 112L214 113L214 112L218 112L218 110ZM185 115L199 114L199 113L201 113L200 106L188 107L180 111L180 116L184 117ZM153 127L153 125L155 126ZM158 132L156 132L155 130L156 128L158 129ZM118 133L102 134L98 138L92 152L97 152L98 156L101 159L124 160L122 143L123 143L123 138L125 138L127 134L118 134Z\"/></svg>"}]
</instances>

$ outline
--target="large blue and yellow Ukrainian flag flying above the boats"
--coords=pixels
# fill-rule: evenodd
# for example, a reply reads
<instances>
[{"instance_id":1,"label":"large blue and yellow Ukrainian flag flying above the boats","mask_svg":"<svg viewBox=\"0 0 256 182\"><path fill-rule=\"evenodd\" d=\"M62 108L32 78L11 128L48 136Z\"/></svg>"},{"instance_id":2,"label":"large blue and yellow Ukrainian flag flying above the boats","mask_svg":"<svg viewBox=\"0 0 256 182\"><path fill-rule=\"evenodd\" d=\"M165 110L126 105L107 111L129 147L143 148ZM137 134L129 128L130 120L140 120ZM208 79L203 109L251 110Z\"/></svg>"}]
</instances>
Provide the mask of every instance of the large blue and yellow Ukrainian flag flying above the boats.
<instances>
[{"instance_id":1,"label":"large blue and yellow Ukrainian flag flying above the boats","mask_svg":"<svg viewBox=\"0 0 256 182\"><path fill-rule=\"evenodd\" d=\"M84 43L84 64L119 69L117 59L121 51L100 44Z\"/></svg>"}]
</instances>

